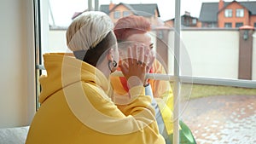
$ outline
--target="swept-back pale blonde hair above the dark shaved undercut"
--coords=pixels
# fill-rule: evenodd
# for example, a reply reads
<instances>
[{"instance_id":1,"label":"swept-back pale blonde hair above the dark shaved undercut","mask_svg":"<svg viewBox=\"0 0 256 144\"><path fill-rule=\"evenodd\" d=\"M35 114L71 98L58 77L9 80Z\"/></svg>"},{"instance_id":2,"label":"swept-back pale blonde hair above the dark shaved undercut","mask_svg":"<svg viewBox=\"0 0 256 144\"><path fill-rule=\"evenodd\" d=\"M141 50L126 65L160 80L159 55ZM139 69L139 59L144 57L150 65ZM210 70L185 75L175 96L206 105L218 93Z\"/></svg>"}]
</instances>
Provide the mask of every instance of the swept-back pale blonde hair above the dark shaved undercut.
<instances>
[{"instance_id":1,"label":"swept-back pale blonde hair above the dark shaved undercut","mask_svg":"<svg viewBox=\"0 0 256 144\"><path fill-rule=\"evenodd\" d=\"M113 31L113 22L107 14L89 11L80 14L67 28L67 47L72 51L94 48Z\"/></svg>"}]
</instances>

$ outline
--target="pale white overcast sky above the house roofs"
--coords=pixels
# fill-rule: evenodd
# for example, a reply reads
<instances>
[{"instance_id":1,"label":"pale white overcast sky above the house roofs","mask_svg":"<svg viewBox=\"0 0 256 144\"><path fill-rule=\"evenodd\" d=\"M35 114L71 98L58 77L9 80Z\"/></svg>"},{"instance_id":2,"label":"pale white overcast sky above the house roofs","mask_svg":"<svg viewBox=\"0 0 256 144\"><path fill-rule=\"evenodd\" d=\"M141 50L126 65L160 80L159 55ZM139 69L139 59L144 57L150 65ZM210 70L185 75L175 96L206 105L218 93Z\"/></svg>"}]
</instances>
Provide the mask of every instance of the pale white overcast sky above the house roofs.
<instances>
[{"instance_id":1,"label":"pale white overcast sky above the house roofs","mask_svg":"<svg viewBox=\"0 0 256 144\"><path fill-rule=\"evenodd\" d=\"M191 16L199 18L201 11L201 3L217 3L219 0L180 0L180 13L189 12ZM224 0L224 2L232 2L233 0ZM248 0L238 0L248 1ZM92 0L94 2L94 0ZM112 0L113 3L127 3L124 0ZM88 8L87 0L49 0L54 18L55 26L69 26L71 18L75 12L81 12ZM109 4L110 0L99 0L99 4ZM175 0L129 0L129 3L157 3L160 11L160 20L170 20L175 17ZM93 4L94 7L94 4ZM53 24L53 20L49 14L49 24Z\"/></svg>"}]
</instances>

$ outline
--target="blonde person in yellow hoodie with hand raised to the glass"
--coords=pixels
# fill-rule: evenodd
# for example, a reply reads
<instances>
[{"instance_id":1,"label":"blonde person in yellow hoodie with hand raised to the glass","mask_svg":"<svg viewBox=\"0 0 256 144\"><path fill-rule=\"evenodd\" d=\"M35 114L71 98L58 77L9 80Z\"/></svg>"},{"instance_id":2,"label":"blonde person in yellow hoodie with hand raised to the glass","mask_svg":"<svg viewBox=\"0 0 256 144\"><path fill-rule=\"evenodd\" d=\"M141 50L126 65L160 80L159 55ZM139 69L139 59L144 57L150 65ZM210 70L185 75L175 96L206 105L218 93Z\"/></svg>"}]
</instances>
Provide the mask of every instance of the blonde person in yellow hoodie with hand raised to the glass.
<instances>
[{"instance_id":1,"label":"blonde person in yellow hoodie with hand raised to the glass","mask_svg":"<svg viewBox=\"0 0 256 144\"><path fill-rule=\"evenodd\" d=\"M148 52L133 45L141 52L137 57L143 59L132 57L129 48L126 65L122 65L131 94L125 109L130 114L125 116L111 101L108 77L119 65L119 53L108 15L80 14L67 29L67 45L75 57L44 55L47 75L40 78L41 107L26 144L165 143L150 106L152 98L144 94L147 63L143 61L148 60Z\"/></svg>"}]
</instances>

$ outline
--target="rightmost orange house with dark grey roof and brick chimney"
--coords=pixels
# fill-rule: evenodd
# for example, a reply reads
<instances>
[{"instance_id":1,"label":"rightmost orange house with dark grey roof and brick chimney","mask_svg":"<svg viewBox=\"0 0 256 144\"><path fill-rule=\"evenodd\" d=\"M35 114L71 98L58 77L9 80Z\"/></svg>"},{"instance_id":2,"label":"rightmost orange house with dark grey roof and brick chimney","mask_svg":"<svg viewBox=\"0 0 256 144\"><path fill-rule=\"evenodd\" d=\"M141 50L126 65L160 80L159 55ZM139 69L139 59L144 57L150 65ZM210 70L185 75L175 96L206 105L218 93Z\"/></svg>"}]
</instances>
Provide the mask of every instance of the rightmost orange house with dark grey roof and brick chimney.
<instances>
[{"instance_id":1,"label":"rightmost orange house with dark grey roof and brick chimney","mask_svg":"<svg viewBox=\"0 0 256 144\"><path fill-rule=\"evenodd\" d=\"M256 27L256 1L202 3L199 20L201 27Z\"/></svg>"}]
</instances>

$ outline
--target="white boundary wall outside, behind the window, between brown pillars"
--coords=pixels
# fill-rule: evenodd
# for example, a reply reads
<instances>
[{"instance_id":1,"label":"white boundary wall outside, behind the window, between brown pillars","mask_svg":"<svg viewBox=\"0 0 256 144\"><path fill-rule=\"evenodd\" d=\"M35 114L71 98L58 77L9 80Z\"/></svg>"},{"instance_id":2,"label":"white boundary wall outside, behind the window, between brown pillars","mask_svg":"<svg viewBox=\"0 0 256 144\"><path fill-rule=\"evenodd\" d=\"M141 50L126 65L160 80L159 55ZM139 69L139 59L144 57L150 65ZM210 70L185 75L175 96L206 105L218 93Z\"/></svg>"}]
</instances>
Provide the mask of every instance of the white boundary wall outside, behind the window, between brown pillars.
<instances>
[{"instance_id":1,"label":"white boundary wall outside, behind the window, between brown pillars","mask_svg":"<svg viewBox=\"0 0 256 144\"><path fill-rule=\"evenodd\" d=\"M49 31L49 51L65 52L65 34L65 30ZM152 33L152 36L155 34ZM173 74L173 31L169 33L169 37L169 62L166 64L169 66L169 74ZM152 40L155 42L154 37ZM256 37L253 38L253 43L256 43ZM238 78L238 30L185 30L181 32L180 48L181 74L205 78ZM253 44L253 80L256 80L256 44Z\"/></svg>"}]
</instances>

